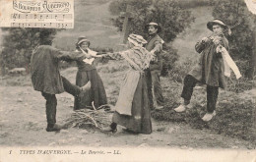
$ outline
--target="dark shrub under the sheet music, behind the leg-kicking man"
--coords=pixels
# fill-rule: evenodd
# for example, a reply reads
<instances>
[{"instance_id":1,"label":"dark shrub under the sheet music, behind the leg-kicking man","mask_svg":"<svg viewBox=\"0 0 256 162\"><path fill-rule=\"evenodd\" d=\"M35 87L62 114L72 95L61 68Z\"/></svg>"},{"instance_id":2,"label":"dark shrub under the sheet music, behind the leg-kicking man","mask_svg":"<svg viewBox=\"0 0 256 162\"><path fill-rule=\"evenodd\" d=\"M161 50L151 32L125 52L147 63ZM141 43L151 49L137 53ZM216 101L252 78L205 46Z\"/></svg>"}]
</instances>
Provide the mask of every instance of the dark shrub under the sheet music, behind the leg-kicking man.
<instances>
[{"instance_id":1,"label":"dark shrub under the sheet music, behind the leg-kicking man","mask_svg":"<svg viewBox=\"0 0 256 162\"><path fill-rule=\"evenodd\" d=\"M50 34L57 32L57 29L52 28L7 27L3 30L7 34L3 37L4 48L0 53L2 68L26 68L27 71L30 69L32 50Z\"/></svg>"}]
</instances>

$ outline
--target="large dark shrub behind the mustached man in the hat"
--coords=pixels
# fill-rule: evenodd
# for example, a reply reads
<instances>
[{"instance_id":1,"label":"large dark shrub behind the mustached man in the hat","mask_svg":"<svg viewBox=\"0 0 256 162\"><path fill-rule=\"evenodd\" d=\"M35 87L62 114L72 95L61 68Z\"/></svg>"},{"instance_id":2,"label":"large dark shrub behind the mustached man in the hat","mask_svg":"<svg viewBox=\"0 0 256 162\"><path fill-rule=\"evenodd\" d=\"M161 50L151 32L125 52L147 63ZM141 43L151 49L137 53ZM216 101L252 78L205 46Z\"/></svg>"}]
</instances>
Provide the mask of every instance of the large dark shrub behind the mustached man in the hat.
<instances>
[{"instance_id":1,"label":"large dark shrub behind the mustached man in the hat","mask_svg":"<svg viewBox=\"0 0 256 162\"><path fill-rule=\"evenodd\" d=\"M136 33L148 37L145 26L150 22L156 22L162 27L160 37L169 43L177 34L184 31L186 27L194 22L191 11L180 8L179 2L170 0L114 0L110 3L109 11L117 15L112 19L113 25L119 31L122 30L124 15L127 5L131 6L130 33ZM163 70L162 76L167 76L168 71L173 68L174 62L178 59L177 52L171 46L164 47L162 53Z\"/></svg>"}]
</instances>

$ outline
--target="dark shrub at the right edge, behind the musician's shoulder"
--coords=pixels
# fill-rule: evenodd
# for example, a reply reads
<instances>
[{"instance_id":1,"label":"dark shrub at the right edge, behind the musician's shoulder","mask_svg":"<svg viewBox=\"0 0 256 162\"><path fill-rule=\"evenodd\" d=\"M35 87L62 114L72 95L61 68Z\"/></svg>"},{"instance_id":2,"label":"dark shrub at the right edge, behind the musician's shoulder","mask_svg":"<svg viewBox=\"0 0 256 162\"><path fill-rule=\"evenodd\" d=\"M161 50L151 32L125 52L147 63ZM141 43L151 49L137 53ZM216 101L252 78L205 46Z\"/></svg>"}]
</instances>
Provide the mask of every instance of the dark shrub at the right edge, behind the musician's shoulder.
<instances>
[{"instance_id":1,"label":"dark shrub at the right edge, behind the musician's shoulder","mask_svg":"<svg viewBox=\"0 0 256 162\"><path fill-rule=\"evenodd\" d=\"M232 34L227 36L229 53L235 60L245 61L247 66L239 67L243 76L253 78L255 63L253 63L253 24L256 16L251 14L242 0L215 1L213 16L224 20L231 27Z\"/></svg>"}]
</instances>

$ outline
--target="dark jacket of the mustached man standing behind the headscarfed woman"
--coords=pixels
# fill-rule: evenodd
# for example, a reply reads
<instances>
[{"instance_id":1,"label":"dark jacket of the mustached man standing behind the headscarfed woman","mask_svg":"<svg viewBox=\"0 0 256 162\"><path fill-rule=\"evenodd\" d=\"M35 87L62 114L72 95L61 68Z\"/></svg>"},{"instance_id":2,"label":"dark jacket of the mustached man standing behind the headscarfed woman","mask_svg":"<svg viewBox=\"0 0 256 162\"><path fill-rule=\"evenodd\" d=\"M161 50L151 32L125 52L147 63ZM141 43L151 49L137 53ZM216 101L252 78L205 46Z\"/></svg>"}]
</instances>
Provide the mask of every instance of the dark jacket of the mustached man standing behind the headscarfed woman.
<instances>
[{"instance_id":1,"label":"dark jacket of the mustached man standing behind the headscarfed woman","mask_svg":"<svg viewBox=\"0 0 256 162\"><path fill-rule=\"evenodd\" d=\"M162 50L162 43L161 38L158 34L151 35L148 38L148 44L145 46L145 48L148 51L152 51L153 49L156 51L155 54L157 55L157 61L152 61L150 64L150 70L160 70L162 69L162 60L161 60L161 50Z\"/></svg>"}]
</instances>

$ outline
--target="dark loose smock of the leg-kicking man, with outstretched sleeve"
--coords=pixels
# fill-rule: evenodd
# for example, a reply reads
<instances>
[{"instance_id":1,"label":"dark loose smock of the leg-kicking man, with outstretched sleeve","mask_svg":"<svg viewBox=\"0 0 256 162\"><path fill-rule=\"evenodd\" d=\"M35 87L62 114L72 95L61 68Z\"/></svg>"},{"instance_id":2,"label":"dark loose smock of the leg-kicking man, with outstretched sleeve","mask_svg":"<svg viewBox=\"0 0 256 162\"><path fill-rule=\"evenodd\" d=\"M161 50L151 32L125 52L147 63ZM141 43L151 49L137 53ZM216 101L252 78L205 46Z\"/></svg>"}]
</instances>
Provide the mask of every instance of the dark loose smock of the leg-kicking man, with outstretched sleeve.
<instances>
[{"instance_id":1,"label":"dark loose smock of the leg-kicking man, with outstretched sleeve","mask_svg":"<svg viewBox=\"0 0 256 162\"><path fill-rule=\"evenodd\" d=\"M40 45L32 52L32 85L34 90L49 94L64 92L58 65L60 60L83 60L83 53L64 52L49 45Z\"/></svg>"}]
</instances>

